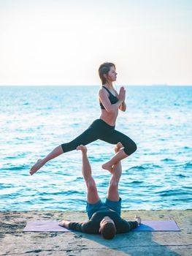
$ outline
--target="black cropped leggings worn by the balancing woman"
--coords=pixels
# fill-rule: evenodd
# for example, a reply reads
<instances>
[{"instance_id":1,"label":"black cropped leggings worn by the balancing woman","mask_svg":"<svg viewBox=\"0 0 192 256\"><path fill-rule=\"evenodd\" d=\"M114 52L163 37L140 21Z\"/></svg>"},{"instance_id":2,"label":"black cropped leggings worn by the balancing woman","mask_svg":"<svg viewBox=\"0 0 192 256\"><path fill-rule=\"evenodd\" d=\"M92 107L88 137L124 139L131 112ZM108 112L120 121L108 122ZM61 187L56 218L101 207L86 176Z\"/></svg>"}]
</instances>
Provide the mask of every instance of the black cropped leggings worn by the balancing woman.
<instances>
[{"instance_id":1,"label":"black cropped leggings worn by the balancing woman","mask_svg":"<svg viewBox=\"0 0 192 256\"><path fill-rule=\"evenodd\" d=\"M65 152L72 151L80 145L87 145L95 140L104 140L110 144L122 143L125 153L129 156L137 150L137 145L128 136L115 130L115 127L111 127L101 119L93 121L85 132L82 132L80 136L75 138L69 143L61 144L61 147Z\"/></svg>"}]
</instances>

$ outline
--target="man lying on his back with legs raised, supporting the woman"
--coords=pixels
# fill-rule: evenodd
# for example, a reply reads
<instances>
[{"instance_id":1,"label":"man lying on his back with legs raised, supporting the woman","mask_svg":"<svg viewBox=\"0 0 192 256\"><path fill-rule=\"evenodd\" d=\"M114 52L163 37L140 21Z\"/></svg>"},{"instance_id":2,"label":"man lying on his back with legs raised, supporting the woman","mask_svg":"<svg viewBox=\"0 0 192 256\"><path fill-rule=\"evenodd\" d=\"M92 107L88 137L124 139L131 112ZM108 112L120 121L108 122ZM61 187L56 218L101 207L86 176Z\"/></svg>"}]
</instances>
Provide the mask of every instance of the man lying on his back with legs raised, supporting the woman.
<instances>
[{"instance_id":1,"label":"man lying on his back with legs raised, supporting the woman","mask_svg":"<svg viewBox=\"0 0 192 256\"><path fill-rule=\"evenodd\" d=\"M115 153L122 147L122 144L118 143L115 146ZM141 223L141 218L135 217L135 221L127 222L120 217L121 198L118 193L118 184L122 172L121 163L118 162L112 168L106 202L102 203L96 189L96 183L91 176L91 165L87 156L87 148L80 145L77 147L77 150L82 151L82 176L88 189L86 211L89 220L87 222L63 220L59 222L59 225L82 233L101 233L101 236L105 239L112 239L116 233L127 233L133 230Z\"/></svg>"}]
</instances>

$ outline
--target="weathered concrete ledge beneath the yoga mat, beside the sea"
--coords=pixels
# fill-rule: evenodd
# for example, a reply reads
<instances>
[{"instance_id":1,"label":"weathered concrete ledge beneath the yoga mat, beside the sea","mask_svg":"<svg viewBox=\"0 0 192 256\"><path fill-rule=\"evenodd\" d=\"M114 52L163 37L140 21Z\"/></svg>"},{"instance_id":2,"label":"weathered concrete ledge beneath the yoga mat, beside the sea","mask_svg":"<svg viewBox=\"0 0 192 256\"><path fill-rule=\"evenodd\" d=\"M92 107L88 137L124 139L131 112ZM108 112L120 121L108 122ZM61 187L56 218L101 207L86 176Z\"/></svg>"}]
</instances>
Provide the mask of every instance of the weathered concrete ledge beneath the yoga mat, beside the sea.
<instances>
[{"instance_id":1,"label":"weathered concrete ledge beneath the yoga mat, beside the sea","mask_svg":"<svg viewBox=\"0 0 192 256\"><path fill-rule=\"evenodd\" d=\"M0 211L0 255L192 255L192 210L123 211L134 219L174 219L181 232L130 232L111 241L77 232L23 233L26 222L87 219L82 211Z\"/></svg>"}]
</instances>

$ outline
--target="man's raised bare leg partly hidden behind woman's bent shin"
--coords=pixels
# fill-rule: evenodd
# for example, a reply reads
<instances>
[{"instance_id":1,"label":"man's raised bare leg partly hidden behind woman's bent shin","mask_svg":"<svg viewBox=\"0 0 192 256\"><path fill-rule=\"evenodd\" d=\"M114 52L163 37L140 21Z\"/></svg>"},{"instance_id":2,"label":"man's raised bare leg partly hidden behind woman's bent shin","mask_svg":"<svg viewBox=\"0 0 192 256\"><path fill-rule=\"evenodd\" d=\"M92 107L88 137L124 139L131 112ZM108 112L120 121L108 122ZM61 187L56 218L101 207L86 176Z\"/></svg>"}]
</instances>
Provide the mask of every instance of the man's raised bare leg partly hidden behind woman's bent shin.
<instances>
[{"instance_id":1,"label":"man's raised bare leg partly hidden behind woman's bent shin","mask_svg":"<svg viewBox=\"0 0 192 256\"><path fill-rule=\"evenodd\" d=\"M123 145L121 143L118 143L117 146L115 146L115 154L120 151L120 148L122 148ZM119 193L118 193L118 184L120 180L120 176L122 173L122 167L121 162L116 163L113 165L112 168L112 176L110 178L110 185L107 192L107 199L112 201L118 201L120 199Z\"/></svg>"}]
</instances>

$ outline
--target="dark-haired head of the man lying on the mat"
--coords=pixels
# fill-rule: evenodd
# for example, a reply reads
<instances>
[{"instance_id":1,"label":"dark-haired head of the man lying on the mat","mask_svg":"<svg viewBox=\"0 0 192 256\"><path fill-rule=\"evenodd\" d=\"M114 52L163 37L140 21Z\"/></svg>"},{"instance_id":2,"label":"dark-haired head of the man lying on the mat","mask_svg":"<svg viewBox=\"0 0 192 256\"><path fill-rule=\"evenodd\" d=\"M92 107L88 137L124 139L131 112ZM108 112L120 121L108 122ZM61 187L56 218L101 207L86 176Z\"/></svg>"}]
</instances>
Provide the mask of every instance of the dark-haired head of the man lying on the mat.
<instances>
[{"instance_id":1,"label":"dark-haired head of the man lying on the mat","mask_svg":"<svg viewBox=\"0 0 192 256\"><path fill-rule=\"evenodd\" d=\"M112 239L116 234L115 223L110 217L104 217L100 222L99 232L105 239Z\"/></svg>"}]
</instances>

